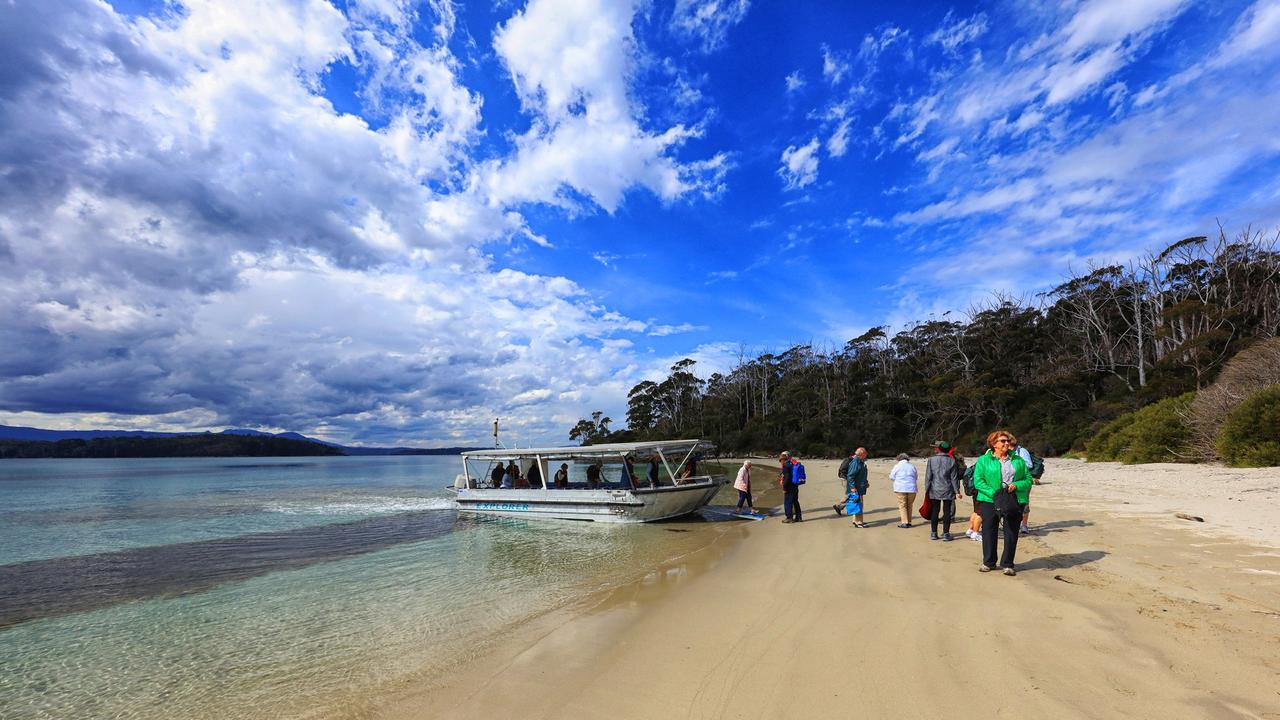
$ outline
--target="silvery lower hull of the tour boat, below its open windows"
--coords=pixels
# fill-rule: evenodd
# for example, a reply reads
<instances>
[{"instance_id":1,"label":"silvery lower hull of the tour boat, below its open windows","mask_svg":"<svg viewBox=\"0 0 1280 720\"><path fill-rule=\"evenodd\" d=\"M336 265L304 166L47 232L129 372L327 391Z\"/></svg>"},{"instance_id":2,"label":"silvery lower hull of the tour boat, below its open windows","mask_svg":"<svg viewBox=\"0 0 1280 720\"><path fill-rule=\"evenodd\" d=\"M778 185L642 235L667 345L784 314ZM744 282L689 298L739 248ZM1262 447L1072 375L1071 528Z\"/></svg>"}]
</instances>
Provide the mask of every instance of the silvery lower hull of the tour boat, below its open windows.
<instances>
[{"instance_id":1,"label":"silvery lower hull of the tour boat, below its open windows","mask_svg":"<svg viewBox=\"0 0 1280 720\"><path fill-rule=\"evenodd\" d=\"M552 518L596 523L653 523L687 515L710 502L723 479L657 488L504 489L458 488L461 512L504 518Z\"/></svg>"}]
</instances>

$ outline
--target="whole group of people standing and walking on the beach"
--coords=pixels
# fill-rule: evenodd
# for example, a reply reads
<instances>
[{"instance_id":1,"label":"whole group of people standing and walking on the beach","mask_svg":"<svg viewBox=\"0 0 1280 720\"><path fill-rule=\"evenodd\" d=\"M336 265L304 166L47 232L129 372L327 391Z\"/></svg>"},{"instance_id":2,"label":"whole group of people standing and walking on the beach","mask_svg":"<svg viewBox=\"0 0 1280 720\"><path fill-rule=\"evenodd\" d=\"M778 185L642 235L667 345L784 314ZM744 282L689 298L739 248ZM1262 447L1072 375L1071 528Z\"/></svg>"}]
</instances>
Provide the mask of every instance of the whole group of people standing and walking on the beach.
<instances>
[{"instance_id":1,"label":"whole group of people standing and walking on the beach","mask_svg":"<svg viewBox=\"0 0 1280 720\"><path fill-rule=\"evenodd\" d=\"M929 539L950 542L951 524L956 503L968 495L973 500L968 537L982 543L982 565L978 570L989 573L997 568L1005 575L1016 575L1014 560L1019 534L1029 533L1030 489L1039 484L1032 477L1036 466L1032 454L1018 445L1009 430L995 430L987 436L987 452L974 460L972 482L964 459L948 442L933 443L933 455L924 464L923 488L919 474L906 454L897 456L890 470L893 495L897 500L899 528L911 527L911 507L923 492L923 512L929 520ZM737 509L744 505L754 511L750 486L751 461L742 464L733 487L739 491ZM837 515L849 514L855 528L869 528L863 505L870 483L867 479L867 448L859 447L841 464L840 478L845 482L845 498L832 505ZM800 486L805 483L805 469L800 459L783 452L778 456L778 484L782 487L783 523L803 521ZM969 484L966 489L966 484ZM942 533L938 533L938 525ZM1004 551L997 565L997 537L1004 537Z\"/></svg>"}]
</instances>

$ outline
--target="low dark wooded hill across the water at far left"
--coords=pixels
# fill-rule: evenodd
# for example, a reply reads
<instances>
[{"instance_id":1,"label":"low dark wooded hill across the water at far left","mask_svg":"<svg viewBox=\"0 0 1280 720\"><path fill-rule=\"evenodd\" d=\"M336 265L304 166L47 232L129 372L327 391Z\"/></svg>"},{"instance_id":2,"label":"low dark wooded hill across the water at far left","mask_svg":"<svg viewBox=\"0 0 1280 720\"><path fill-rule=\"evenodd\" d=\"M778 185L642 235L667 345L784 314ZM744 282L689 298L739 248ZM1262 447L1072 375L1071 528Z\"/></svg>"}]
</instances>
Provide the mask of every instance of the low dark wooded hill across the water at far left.
<instances>
[{"instance_id":1,"label":"low dark wooded hill across the water at far left","mask_svg":"<svg viewBox=\"0 0 1280 720\"><path fill-rule=\"evenodd\" d=\"M0 439L0 457L298 457L342 455L337 447L273 436L227 433L172 437Z\"/></svg>"}]
</instances>

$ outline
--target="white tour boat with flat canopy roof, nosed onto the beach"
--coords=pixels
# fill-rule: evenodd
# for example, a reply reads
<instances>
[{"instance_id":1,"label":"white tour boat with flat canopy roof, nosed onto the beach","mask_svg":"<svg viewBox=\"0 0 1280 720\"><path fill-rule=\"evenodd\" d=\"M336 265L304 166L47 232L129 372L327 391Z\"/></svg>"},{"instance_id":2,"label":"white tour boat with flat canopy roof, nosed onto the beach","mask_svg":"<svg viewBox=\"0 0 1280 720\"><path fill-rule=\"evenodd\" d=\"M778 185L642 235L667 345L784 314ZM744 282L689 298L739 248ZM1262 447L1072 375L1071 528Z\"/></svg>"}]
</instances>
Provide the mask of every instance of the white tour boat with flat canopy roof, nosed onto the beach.
<instances>
[{"instance_id":1,"label":"white tour boat with flat canopy roof, nosed onto the beach","mask_svg":"<svg viewBox=\"0 0 1280 720\"><path fill-rule=\"evenodd\" d=\"M622 442L580 447L494 448L462 454L462 474L454 480L462 512L508 518L558 518L598 523L652 523L687 515L707 505L722 475L700 474L696 464L712 450L696 439ZM635 462L634 482L623 469ZM657 460L659 478L650 486L649 462ZM531 487L502 487L493 469L515 461ZM568 487L556 487L556 471L568 465ZM589 487L588 468L599 470L599 487ZM536 468L536 473L535 473ZM477 473L479 470L479 473ZM497 487L495 487L497 486Z\"/></svg>"}]
</instances>

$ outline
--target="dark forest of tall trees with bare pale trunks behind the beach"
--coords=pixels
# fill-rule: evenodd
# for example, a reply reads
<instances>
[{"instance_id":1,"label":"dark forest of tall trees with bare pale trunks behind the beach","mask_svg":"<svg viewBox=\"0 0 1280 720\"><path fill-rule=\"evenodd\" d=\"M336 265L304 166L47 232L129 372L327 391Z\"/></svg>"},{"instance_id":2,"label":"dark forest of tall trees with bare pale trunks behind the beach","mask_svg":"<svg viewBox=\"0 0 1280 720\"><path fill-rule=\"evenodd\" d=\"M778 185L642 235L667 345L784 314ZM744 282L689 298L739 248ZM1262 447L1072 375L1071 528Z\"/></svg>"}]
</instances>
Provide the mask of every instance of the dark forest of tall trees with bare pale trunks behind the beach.
<instances>
[{"instance_id":1,"label":"dark forest of tall trees with bare pale trunks behind the beach","mask_svg":"<svg viewBox=\"0 0 1280 720\"><path fill-rule=\"evenodd\" d=\"M1181 398L1165 405L1178 428L1161 459L1219 459L1216 436L1199 445L1190 437L1189 406L1239 354L1277 342L1277 241L1280 233L1229 237L1219 228L1216 237L1085 268L1033 297L991 297L892 334L870 328L841 347L744 346L731 370L705 379L681 360L662 382L631 388L626 428L594 413L570 438L700 437L722 452L835 457L856 446L923 452L934 439L975 454L989 430L1009 428L1056 456L1088 452L1102 428L1129 427L1138 411ZM1244 373L1253 389L1280 383L1276 360ZM1216 433L1247 400L1231 388L1217 395L1233 400L1219 402L1217 425L1201 434Z\"/></svg>"}]
</instances>

